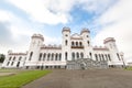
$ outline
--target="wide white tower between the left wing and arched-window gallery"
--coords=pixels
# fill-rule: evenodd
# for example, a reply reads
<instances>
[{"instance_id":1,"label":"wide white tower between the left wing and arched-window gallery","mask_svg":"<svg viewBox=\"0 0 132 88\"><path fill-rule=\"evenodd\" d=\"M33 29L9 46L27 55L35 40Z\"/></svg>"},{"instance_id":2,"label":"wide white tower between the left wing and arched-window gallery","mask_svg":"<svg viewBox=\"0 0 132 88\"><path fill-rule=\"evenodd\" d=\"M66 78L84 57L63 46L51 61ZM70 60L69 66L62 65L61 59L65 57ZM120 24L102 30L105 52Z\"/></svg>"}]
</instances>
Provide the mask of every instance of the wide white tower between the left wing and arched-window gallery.
<instances>
[{"instance_id":1,"label":"wide white tower between the left wing and arched-window gallery","mask_svg":"<svg viewBox=\"0 0 132 88\"><path fill-rule=\"evenodd\" d=\"M31 38L32 40L31 40L25 66L34 67L37 64L40 50L41 50L41 46L44 42L44 37L41 34L33 34Z\"/></svg>"}]
</instances>

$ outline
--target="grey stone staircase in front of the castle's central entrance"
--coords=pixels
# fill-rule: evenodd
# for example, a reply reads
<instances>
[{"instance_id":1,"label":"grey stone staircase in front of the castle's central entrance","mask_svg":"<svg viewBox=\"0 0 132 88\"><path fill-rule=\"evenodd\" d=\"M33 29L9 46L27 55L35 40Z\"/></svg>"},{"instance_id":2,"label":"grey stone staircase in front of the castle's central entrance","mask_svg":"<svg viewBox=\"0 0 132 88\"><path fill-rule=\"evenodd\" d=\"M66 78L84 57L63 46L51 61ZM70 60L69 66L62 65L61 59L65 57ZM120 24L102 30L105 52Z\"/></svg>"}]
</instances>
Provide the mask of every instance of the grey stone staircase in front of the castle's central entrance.
<instances>
[{"instance_id":1,"label":"grey stone staircase in front of the castle's central entrance","mask_svg":"<svg viewBox=\"0 0 132 88\"><path fill-rule=\"evenodd\" d=\"M91 69L91 68L108 68L106 61L97 62L89 58L79 58L76 61L67 61L67 69Z\"/></svg>"}]
</instances>

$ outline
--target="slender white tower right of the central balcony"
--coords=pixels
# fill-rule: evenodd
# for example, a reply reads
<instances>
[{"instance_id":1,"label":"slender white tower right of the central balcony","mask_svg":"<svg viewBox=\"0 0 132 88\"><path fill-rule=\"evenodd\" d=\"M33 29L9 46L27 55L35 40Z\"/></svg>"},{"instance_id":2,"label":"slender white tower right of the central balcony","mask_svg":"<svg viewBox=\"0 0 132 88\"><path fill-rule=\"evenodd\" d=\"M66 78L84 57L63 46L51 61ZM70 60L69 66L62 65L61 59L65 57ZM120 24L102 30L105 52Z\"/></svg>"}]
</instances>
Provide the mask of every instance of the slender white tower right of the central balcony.
<instances>
[{"instance_id":1,"label":"slender white tower right of the central balcony","mask_svg":"<svg viewBox=\"0 0 132 88\"><path fill-rule=\"evenodd\" d=\"M82 29L80 35L82 36L84 41L84 53L85 58L91 58L92 59L92 47L91 47L91 40L90 40L90 31L88 29Z\"/></svg>"}]
</instances>

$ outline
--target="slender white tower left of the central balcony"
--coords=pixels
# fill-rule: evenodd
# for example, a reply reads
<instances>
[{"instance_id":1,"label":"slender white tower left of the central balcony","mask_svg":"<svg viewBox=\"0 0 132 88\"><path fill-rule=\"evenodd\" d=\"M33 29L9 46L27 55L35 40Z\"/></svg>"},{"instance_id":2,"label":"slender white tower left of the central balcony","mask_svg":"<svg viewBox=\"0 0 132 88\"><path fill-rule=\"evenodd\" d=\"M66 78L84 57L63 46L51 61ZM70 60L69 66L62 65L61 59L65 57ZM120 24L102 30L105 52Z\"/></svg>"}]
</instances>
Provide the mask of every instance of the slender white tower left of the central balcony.
<instances>
[{"instance_id":1,"label":"slender white tower left of the central balcony","mask_svg":"<svg viewBox=\"0 0 132 88\"><path fill-rule=\"evenodd\" d=\"M62 41L62 61L70 61L70 29L69 28L63 28L63 41Z\"/></svg>"}]
</instances>

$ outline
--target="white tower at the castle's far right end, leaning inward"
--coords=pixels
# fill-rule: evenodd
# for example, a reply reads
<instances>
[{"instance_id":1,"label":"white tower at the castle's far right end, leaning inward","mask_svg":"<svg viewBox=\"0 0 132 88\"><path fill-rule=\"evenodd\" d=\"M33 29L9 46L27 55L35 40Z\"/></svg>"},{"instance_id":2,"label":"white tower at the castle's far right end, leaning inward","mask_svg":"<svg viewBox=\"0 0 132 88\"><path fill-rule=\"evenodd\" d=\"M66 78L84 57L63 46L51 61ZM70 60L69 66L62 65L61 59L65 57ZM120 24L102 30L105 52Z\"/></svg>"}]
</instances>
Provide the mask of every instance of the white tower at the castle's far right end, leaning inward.
<instances>
[{"instance_id":1,"label":"white tower at the castle's far right end, leaning inward","mask_svg":"<svg viewBox=\"0 0 132 88\"><path fill-rule=\"evenodd\" d=\"M103 44L110 51L112 65L122 65L122 59L116 45L116 40L113 37L108 37L103 41Z\"/></svg>"}]
</instances>

